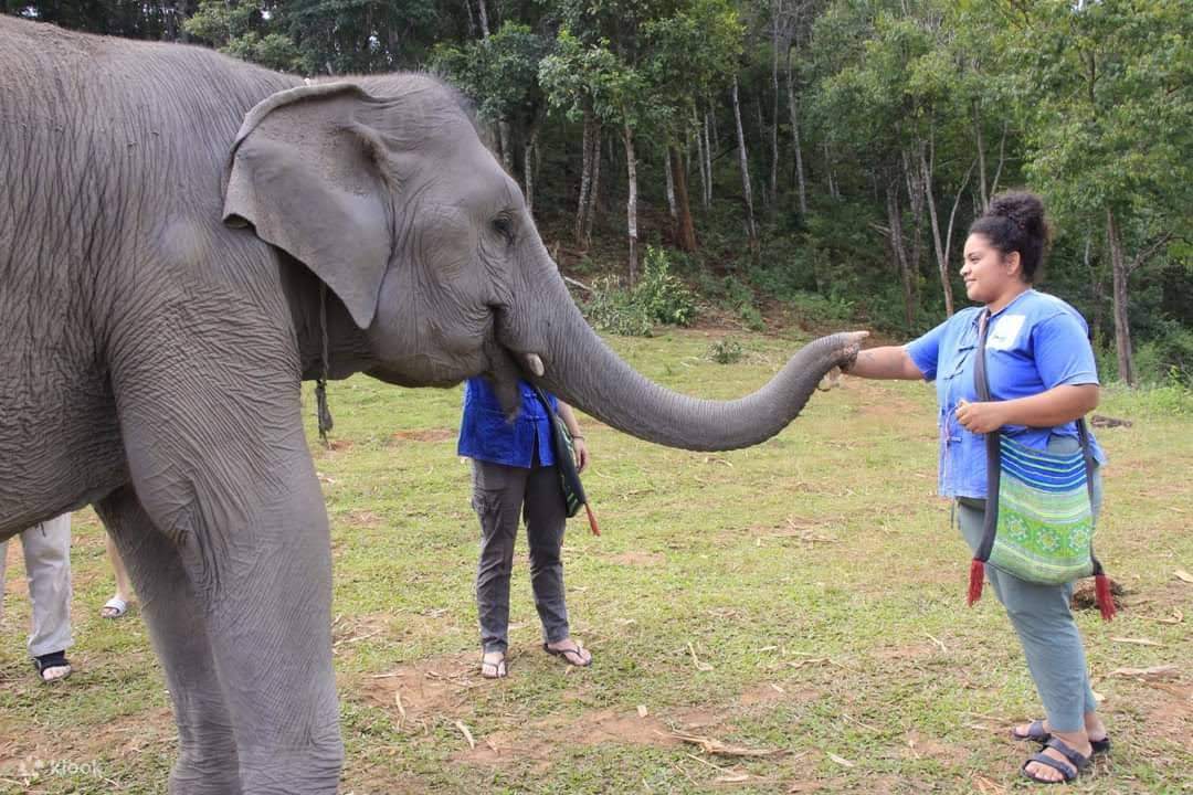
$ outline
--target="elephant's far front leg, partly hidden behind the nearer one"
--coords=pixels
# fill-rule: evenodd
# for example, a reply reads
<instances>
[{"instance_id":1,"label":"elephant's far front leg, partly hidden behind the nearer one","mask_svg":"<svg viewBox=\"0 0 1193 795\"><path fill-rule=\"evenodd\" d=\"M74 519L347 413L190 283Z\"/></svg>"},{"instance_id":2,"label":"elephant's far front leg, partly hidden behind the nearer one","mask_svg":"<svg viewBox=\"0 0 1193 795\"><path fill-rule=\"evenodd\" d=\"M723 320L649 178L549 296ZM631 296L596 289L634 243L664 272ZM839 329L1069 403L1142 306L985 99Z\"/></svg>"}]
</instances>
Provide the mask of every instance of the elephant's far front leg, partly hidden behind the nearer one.
<instances>
[{"instance_id":1,"label":"elephant's far front leg, partly hidden behind the nearer one","mask_svg":"<svg viewBox=\"0 0 1193 795\"><path fill-rule=\"evenodd\" d=\"M146 515L131 487L95 504L129 569L174 702L179 757L174 795L240 795L231 716L216 676L206 620L178 548Z\"/></svg>"}]
</instances>

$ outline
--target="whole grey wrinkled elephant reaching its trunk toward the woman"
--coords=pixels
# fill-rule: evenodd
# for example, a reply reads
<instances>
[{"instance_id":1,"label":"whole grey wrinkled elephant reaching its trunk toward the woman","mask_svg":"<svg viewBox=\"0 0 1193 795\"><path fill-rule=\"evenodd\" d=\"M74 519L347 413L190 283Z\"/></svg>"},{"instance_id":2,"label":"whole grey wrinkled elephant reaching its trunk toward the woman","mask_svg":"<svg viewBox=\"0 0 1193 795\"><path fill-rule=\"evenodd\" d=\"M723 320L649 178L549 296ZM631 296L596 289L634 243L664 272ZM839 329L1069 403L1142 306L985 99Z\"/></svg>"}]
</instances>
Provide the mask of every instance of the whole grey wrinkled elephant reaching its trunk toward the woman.
<instances>
[{"instance_id":1,"label":"whole grey wrinkled elephant reaching its trunk toward the woman","mask_svg":"<svg viewBox=\"0 0 1193 795\"><path fill-rule=\"evenodd\" d=\"M237 132L239 130L239 132ZM215 52L0 17L0 539L93 503L180 735L172 793L334 793L320 369L534 380L663 445L778 433L855 336L693 400L585 323L518 186L422 75L304 86Z\"/></svg>"}]
</instances>

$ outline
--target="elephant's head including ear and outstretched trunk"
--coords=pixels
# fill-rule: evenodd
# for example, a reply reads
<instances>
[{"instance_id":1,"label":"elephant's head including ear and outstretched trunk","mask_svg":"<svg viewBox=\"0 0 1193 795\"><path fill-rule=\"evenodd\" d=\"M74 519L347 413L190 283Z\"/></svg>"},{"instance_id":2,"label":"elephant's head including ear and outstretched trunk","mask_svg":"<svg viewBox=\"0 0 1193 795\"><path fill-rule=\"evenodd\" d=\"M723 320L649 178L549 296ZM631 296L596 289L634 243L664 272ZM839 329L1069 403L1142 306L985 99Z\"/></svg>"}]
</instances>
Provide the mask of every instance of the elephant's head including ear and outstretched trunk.
<instances>
[{"instance_id":1,"label":"elephant's head including ear and outstretched trunk","mask_svg":"<svg viewBox=\"0 0 1193 795\"><path fill-rule=\"evenodd\" d=\"M728 449L762 441L803 408L859 335L799 352L729 403L668 392L585 322L518 185L481 143L458 94L425 75L303 86L246 117L224 217L304 263L361 329L366 372L403 385L487 374L508 410L528 378L651 441Z\"/></svg>"}]
</instances>

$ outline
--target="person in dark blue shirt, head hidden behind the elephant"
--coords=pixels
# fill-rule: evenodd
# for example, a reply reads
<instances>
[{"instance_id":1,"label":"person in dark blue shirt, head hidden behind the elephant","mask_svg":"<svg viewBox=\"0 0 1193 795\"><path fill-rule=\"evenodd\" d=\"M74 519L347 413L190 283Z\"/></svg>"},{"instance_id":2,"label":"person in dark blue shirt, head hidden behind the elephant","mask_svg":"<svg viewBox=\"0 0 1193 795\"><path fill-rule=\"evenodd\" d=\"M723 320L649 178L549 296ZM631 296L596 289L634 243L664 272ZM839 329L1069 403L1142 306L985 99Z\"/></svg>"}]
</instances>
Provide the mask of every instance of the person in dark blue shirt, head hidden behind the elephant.
<instances>
[{"instance_id":1,"label":"person in dark blue shirt, head hidden behind the elephant","mask_svg":"<svg viewBox=\"0 0 1193 795\"><path fill-rule=\"evenodd\" d=\"M476 605L481 625L481 675L507 673L509 576L518 518L525 516L530 540L530 577L534 607L543 623L543 648L571 665L592 664L592 654L571 638L563 592L563 529L567 508L551 447L551 418L534 389L519 383L521 411L509 422L493 386L483 378L464 385L464 415L458 452L472 459L472 508L481 520L481 560L476 570ZM588 447L571 408L548 395L567 423L576 467L588 466Z\"/></svg>"}]
</instances>

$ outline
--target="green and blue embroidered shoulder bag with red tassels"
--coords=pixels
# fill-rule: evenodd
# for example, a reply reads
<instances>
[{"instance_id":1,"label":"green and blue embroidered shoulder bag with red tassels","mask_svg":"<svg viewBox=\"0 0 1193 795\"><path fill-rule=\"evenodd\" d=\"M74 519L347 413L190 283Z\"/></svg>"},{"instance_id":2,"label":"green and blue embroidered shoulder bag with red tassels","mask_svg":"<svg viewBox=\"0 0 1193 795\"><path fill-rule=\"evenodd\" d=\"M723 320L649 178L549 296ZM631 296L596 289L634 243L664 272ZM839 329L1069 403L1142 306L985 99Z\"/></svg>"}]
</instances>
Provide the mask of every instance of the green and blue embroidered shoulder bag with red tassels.
<instances>
[{"instance_id":1,"label":"green and blue embroidered shoulder bag with red tassels","mask_svg":"<svg viewBox=\"0 0 1193 795\"><path fill-rule=\"evenodd\" d=\"M987 402L994 399L985 373L988 321L985 312L973 354L973 385ZM1084 418L1077 420L1077 436L1081 449L1051 453L1003 433L985 435L985 523L970 564L970 604L982 597L983 564L989 564L1041 585L1093 574L1102 617L1113 617L1109 582L1094 554L1094 456Z\"/></svg>"}]
</instances>

